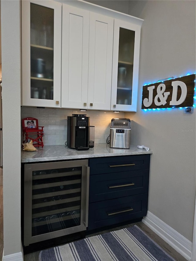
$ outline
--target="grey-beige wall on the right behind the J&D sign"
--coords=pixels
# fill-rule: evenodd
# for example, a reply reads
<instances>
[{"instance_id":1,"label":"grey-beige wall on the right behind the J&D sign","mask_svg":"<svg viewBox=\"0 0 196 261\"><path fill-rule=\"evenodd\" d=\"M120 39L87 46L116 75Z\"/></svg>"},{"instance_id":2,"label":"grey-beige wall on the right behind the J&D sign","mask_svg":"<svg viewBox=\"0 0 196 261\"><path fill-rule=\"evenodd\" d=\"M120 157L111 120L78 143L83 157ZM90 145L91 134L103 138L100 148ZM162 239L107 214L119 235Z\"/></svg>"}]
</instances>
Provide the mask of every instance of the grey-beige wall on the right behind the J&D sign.
<instances>
[{"instance_id":1,"label":"grey-beige wall on the right behind the J&D sign","mask_svg":"<svg viewBox=\"0 0 196 261\"><path fill-rule=\"evenodd\" d=\"M195 203L195 115L141 110L142 86L195 73L195 1L130 1L141 30L137 113L132 144L153 150L148 210L192 242ZM189 131L193 130L193 132Z\"/></svg>"}]
</instances>

